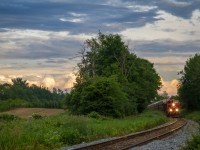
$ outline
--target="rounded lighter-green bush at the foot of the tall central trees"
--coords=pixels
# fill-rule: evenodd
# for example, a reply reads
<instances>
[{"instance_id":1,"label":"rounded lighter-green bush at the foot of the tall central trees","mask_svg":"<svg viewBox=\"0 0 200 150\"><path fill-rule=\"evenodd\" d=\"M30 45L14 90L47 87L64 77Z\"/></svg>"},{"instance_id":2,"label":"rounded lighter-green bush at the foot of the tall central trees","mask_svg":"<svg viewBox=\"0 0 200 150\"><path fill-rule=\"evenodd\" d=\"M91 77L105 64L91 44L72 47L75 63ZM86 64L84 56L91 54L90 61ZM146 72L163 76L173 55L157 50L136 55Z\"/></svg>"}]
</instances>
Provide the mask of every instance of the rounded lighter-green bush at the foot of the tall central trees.
<instances>
[{"instance_id":1,"label":"rounded lighter-green bush at the foot of the tall central trees","mask_svg":"<svg viewBox=\"0 0 200 150\"><path fill-rule=\"evenodd\" d=\"M95 111L113 117L122 117L125 114L127 97L115 79L95 77L89 80L88 84L80 86L81 91L72 91L68 100L69 106L75 110L74 113L89 114Z\"/></svg>"}]
</instances>

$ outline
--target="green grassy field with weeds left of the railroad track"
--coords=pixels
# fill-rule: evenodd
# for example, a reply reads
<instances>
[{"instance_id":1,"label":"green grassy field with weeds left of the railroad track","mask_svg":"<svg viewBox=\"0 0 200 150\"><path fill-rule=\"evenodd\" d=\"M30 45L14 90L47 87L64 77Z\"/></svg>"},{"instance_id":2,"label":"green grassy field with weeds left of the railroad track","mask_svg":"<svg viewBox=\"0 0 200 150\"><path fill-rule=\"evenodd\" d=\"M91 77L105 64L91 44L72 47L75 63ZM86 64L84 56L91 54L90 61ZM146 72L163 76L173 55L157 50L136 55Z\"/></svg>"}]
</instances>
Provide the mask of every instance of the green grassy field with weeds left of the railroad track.
<instances>
[{"instance_id":1,"label":"green grassy field with weeds left of the railroad track","mask_svg":"<svg viewBox=\"0 0 200 150\"><path fill-rule=\"evenodd\" d=\"M21 119L0 115L0 150L56 149L96 139L121 136L152 128L167 121L164 114L147 111L123 119L57 116Z\"/></svg>"}]
</instances>

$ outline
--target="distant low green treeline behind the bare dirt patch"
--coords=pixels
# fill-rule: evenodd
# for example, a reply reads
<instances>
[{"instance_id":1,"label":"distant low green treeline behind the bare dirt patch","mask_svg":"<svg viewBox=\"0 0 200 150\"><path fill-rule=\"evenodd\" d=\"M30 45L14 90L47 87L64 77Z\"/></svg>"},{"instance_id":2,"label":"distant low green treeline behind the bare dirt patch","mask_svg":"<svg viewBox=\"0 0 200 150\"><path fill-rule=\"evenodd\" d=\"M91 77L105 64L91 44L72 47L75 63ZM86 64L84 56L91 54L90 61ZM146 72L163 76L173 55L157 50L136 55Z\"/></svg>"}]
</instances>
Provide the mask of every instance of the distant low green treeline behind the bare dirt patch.
<instances>
[{"instance_id":1,"label":"distant low green treeline behind the bare dirt patch","mask_svg":"<svg viewBox=\"0 0 200 150\"><path fill-rule=\"evenodd\" d=\"M27 83L22 78L12 79L12 84L0 84L0 109L13 107L60 108L65 94L54 88L51 92L45 87Z\"/></svg>"}]
</instances>

